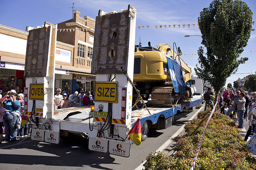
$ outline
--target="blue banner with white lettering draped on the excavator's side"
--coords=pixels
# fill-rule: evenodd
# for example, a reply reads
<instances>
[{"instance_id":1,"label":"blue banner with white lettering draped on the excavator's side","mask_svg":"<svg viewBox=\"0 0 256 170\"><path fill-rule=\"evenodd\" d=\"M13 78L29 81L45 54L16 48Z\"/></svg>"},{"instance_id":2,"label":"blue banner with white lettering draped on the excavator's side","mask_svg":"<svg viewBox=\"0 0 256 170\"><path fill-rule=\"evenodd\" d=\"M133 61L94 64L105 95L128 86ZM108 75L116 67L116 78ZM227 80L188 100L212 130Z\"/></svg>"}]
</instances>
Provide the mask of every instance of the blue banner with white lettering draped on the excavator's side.
<instances>
[{"instance_id":1,"label":"blue banner with white lettering draped on the excavator's side","mask_svg":"<svg viewBox=\"0 0 256 170\"><path fill-rule=\"evenodd\" d=\"M176 61L168 57L166 58L167 58L167 64L168 64L170 76L172 78L172 84L174 86L174 91L185 93L186 92L185 81L182 75L182 70L180 69L180 65Z\"/></svg>"}]
</instances>

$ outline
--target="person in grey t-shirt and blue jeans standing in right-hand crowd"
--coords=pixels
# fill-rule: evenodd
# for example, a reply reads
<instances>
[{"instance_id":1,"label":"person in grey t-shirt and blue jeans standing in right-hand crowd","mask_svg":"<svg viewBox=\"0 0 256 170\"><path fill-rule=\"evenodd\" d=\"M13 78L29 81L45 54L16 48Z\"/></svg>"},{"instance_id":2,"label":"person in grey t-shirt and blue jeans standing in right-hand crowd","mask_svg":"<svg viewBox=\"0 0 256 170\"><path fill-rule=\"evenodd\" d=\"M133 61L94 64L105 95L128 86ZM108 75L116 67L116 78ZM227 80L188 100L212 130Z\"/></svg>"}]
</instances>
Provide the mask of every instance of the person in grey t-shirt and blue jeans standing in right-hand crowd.
<instances>
[{"instance_id":1,"label":"person in grey t-shirt and blue jeans standing in right-hand crowd","mask_svg":"<svg viewBox=\"0 0 256 170\"><path fill-rule=\"evenodd\" d=\"M245 112L245 94L244 92L240 93L240 96L236 102L237 104L237 117L238 117L238 128L244 128L244 112Z\"/></svg>"}]
</instances>

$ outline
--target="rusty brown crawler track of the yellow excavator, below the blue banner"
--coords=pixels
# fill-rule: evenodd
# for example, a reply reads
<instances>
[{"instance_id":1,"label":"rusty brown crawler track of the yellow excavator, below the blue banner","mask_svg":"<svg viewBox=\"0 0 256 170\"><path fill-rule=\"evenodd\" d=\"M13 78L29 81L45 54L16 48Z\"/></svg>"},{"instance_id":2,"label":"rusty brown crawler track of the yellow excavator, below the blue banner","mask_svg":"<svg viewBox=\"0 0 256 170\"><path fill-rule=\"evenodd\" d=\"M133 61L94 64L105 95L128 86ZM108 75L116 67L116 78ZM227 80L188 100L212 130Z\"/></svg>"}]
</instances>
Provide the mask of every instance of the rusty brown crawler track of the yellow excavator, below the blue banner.
<instances>
[{"instance_id":1,"label":"rusty brown crawler track of the yellow excavator, below the blue banner","mask_svg":"<svg viewBox=\"0 0 256 170\"><path fill-rule=\"evenodd\" d=\"M172 85L154 87L151 93L151 102L155 107L174 107L178 96L172 92Z\"/></svg>"}]
</instances>

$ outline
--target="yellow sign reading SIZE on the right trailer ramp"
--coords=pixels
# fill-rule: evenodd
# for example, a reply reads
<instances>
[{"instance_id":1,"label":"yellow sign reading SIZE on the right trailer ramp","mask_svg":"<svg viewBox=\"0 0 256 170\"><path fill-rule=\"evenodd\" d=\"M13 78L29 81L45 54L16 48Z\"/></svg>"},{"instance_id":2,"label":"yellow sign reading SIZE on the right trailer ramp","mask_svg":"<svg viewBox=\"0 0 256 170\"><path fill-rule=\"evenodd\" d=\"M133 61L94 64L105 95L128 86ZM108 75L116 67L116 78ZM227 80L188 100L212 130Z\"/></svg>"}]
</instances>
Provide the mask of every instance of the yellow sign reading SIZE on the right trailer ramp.
<instances>
[{"instance_id":1,"label":"yellow sign reading SIZE on the right trailer ramp","mask_svg":"<svg viewBox=\"0 0 256 170\"><path fill-rule=\"evenodd\" d=\"M117 103L117 82L96 82L95 101Z\"/></svg>"}]
</instances>

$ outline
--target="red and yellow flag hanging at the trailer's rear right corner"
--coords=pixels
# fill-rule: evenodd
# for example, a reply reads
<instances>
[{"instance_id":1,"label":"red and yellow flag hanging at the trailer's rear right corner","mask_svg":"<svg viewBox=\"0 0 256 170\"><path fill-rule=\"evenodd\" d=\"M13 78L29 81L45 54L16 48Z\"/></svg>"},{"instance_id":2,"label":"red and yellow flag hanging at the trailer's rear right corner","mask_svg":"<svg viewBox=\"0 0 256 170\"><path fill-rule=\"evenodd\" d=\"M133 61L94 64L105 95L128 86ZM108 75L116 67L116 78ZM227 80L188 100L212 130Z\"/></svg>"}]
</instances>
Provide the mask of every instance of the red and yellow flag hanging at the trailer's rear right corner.
<instances>
[{"instance_id":1,"label":"red and yellow flag hanging at the trailer's rear right corner","mask_svg":"<svg viewBox=\"0 0 256 170\"><path fill-rule=\"evenodd\" d=\"M132 126L132 129L128 133L133 141L134 144L137 146L140 146L141 144L141 125L140 125L140 119L137 119L137 121Z\"/></svg>"}]
</instances>

